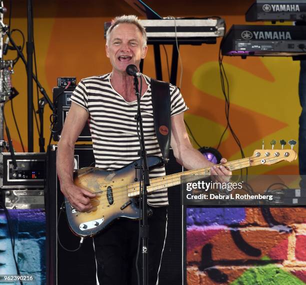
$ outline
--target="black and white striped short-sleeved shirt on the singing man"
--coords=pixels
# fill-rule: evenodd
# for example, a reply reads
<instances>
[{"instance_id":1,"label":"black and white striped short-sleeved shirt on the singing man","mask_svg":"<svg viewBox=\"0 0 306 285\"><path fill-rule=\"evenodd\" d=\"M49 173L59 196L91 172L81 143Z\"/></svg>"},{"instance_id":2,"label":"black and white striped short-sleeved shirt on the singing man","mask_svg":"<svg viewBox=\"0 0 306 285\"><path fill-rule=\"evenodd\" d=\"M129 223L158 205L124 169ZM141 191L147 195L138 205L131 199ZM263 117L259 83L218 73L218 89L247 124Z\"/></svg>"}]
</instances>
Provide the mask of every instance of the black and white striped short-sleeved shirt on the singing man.
<instances>
[{"instance_id":1,"label":"black and white striped short-sleeved shirt on the singing man","mask_svg":"<svg viewBox=\"0 0 306 285\"><path fill-rule=\"evenodd\" d=\"M110 83L110 74L82 79L75 87L71 101L84 107L89 113L89 128L92 136L95 166L104 170L115 170L139 159L139 140L136 131L137 101L127 102ZM150 79L140 99L143 133L147 155L162 156L158 146L151 100ZM170 84L171 116L187 110L186 104L176 86ZM149 176L165 175L164 166L150 171ZM148 204L168 204L167 189L148 195Z\"/></svg>"}]
</instances>

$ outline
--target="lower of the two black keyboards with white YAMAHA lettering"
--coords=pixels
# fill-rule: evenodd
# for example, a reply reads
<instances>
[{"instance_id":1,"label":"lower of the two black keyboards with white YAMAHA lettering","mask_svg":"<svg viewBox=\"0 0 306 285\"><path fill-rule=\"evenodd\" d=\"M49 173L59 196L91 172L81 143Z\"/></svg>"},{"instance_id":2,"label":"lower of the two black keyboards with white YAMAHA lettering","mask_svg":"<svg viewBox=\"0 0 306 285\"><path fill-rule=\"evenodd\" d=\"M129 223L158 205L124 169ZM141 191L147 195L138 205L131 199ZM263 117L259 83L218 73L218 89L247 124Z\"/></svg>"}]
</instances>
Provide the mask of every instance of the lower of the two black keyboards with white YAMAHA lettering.
<instances>
[{"instance_id":1,"label":"lower of the two black keyboards with white YAMAHA lettering","mask_svg":"<svg viewBox=\"0 0 306 285\"><path fill-rule=\"evenodd\" d=\"M223 55L306 55L306 26L232 25L221 44Z\"/></svg>"}]
</instances>

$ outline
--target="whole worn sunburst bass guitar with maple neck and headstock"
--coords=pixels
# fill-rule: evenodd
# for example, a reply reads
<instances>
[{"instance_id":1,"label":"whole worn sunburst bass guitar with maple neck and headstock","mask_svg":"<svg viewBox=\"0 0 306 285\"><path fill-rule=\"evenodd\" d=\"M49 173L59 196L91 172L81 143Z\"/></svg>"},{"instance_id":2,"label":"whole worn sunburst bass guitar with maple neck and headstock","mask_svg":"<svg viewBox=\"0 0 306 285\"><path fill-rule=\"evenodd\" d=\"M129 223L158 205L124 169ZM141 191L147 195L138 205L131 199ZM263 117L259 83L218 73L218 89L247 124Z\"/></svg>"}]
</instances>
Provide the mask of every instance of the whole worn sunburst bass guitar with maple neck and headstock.
<instances>
[{"instance_id":1,"label":"whole worn sunburst bass guitar with maple neck and headstock","mask_svg":"<svg viewBox=\"0 0 306 285\"><path fill-rule=\"evenodd\" d=\"M292 161L296 156L296 152L292 149L257 149L250 157L222 165L233 171L260 164L274 164L282 160ZM67 220L72 232L82 237L92 236L114 219L140 218L140 210L136 203L136 198L139 196L139 163L140 160L136 160L115 171L84 167L73 173L75 185L96 194L93 201L96 207L90 212L78 212L65 198ZM147 164L149 169L152 169L160 166L162 161L158 156L149 156ZM220 164L216 166L218 165ZM210 167L151 178L147 192L150 194L156 190L209 176Z\"/></svg>"}]
</instances>

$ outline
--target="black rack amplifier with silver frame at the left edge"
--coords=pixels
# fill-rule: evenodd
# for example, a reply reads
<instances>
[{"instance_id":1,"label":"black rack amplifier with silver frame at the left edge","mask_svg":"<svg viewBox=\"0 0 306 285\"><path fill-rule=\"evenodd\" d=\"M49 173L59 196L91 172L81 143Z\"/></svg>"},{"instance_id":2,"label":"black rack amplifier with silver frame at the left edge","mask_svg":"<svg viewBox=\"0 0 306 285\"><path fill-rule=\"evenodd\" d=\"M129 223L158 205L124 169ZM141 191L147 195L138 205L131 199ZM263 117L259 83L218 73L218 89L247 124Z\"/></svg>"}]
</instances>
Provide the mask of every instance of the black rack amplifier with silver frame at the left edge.
<instances>
[{"instance_id":1,"label":"black rack amplifier with silver frame at the left edge","mask_svg":"<svg viewBox=\"0 0 306 285\"><path fill-rule=\"evenodd\" d=\"M26 189L44 187L44 152L16 152L17 167L14 169L11 155L0 153L2 176L1 188Z\"/></svg>"}]
</instances>

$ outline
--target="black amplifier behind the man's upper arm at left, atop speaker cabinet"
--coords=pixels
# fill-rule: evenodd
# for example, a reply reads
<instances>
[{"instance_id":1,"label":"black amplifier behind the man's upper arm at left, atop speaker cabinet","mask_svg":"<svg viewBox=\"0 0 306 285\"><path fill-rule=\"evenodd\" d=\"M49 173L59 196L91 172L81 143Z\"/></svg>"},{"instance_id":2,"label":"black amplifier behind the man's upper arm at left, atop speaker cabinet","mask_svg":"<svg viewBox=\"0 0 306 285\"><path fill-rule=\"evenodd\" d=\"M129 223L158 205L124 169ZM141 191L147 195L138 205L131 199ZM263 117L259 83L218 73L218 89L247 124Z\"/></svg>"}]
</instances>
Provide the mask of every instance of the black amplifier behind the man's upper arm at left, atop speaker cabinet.
<instances>
[{"instance_id":1,"label":"black amplifier behind the man's upper arm at left, atop speaker cabinet","mask_svg":"<svg viewBox=\"0 0 306 285\"><path fill-rule=\"evenodd\" d=\"M75 86L69 86L66 89L64 87L54 87L53 93L53 105L56 110L56 121L53 126L53 139L58 141L60 133L67 116L67 112L71 106L70 97ZM91 141L91 134L88 124L85 124L83 130L77 138L77 141Z\"/></svg>"}]
</instances>

